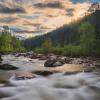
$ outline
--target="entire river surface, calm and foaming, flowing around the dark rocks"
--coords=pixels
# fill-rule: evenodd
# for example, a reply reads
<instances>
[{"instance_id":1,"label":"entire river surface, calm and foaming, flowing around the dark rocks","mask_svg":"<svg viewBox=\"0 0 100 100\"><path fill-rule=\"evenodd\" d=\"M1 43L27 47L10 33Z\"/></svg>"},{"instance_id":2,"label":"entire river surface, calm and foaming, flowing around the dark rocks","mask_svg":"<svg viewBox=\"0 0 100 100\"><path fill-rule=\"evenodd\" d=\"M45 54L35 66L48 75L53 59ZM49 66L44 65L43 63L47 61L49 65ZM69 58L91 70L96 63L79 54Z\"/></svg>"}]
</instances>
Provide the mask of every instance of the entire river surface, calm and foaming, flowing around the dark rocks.
<instances>
[{"instance_id":1,"label":"entire river surface, calm and foaming, flowing around the dark rocks","mask_svg":"<svg viewBox=\"0 0 100 100\"><path fill-rule=\"evenodd\" d=\"M99 72L72 72L81 65L63 65L57 68L45 68L45 61L30 59L27 57L15 57L13 55L3 56L3 62L19 69L15 71L0 71L12 73L7 84L0 84L0 100L100 100L100 73ZM78 67L80 66L80 67ZM71 67L71 68L70 68ZM73 70L74 69L74 70ZM16 72L33 71L59 71L47 77L36 75L35 78L16 80ZM78 70L78 69L77 69ZM76 71L76 70L75 70Z\"/></svg>"}]
</instances>

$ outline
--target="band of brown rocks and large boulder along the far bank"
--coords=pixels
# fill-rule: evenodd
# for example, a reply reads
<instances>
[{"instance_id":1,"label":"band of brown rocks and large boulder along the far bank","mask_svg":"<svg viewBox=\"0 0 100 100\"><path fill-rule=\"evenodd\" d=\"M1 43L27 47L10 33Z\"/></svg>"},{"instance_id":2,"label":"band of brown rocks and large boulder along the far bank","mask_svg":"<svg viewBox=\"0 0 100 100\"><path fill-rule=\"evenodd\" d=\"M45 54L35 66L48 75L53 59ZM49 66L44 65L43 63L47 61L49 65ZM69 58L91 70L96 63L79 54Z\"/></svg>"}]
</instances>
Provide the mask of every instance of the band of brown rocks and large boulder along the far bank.
<instances>
[{"instance_id":1,"label":"band of brown rocks and large boulder along the far bank","mask_svg":"<svg viewBox=\"0 0 100 100\"><path fill-rule=\"evenodd\" d=\"M20 53L16 57L24 56L31 59L44 60L45 67L58 67L64 64L80 64L85 67L100 67L100 58L95 57L67 57L55 54Z\"/></svg>"}]
</instances>

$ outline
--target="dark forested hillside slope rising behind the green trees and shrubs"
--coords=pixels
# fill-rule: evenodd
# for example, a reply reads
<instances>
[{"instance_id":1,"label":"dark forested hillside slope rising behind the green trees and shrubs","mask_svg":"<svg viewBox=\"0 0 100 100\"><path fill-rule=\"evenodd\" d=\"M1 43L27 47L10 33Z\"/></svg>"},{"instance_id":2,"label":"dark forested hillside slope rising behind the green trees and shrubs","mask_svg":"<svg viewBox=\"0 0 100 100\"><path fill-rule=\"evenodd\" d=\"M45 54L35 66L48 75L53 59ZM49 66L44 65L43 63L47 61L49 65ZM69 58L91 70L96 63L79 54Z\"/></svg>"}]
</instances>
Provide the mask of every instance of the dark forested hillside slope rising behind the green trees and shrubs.
<instances>
[{"instance_id":1,"label":"dark forested hillside slope rising behind the green trees and shrubs","mask_svg":"<svg viewBox=\"0 0 100 100\"><path fill-rule=\"evenodd\" d=\"M96 37L100 39L100 10L95 8L96 5L91 5L88 12L86 13L86 16L81 20L77 20L69 25L64 25L63 27L51 31L48 34L27 39L25 40L25 46L28 48L39 47L47 39L51 39L53 44L56 46L64 46L65 44L78 44L80 42L80 33L78 31L78 28L82 23L85 22L89 22L94 26ZM93 11L92 9L95 9L95 11Z\"/></svg>"}]
</instances>

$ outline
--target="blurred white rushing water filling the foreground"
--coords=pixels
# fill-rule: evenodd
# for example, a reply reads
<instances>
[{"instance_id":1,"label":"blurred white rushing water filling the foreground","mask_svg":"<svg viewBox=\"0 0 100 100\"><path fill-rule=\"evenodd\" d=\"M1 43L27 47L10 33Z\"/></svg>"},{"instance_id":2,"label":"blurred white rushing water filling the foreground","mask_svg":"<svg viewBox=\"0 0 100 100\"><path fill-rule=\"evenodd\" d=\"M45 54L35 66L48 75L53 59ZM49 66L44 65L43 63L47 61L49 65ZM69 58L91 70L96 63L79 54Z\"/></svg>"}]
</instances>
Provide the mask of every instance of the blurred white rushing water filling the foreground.
<instances>
[{"instance_id":1,"label":"blurred white rushing water filling the foreground","mask_svg":"<svg viewBox=\"0 0 100 100\"><path fill-rule=\"evenodd\" d=\"M0 86L0 100L100 100L100 74L55 73L28 80L16 80L13 75L8 85Z\"/></svg>"}]
</instances>

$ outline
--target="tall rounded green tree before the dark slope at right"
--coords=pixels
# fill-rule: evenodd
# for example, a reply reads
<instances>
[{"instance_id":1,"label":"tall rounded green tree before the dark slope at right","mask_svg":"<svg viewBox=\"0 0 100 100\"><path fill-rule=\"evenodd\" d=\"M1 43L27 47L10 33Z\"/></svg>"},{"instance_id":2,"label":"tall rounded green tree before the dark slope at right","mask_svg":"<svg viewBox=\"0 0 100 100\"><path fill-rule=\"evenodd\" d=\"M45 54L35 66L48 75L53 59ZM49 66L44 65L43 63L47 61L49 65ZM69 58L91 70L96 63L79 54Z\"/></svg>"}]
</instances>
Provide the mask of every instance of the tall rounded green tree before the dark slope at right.
<instances>
[{"instance_id":1,"label":"tall rounded green tree before the dark slope at right","mask_svg":"<svg viewBox=\"0 0 100 100\"><path fill-rule=\"evenodd\" d=\"M84 22L79 27L80 46L83 55L91 55L96 41L96 32L93 25L89 22Z\"/></svg>"}]
</instances>

